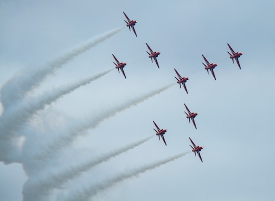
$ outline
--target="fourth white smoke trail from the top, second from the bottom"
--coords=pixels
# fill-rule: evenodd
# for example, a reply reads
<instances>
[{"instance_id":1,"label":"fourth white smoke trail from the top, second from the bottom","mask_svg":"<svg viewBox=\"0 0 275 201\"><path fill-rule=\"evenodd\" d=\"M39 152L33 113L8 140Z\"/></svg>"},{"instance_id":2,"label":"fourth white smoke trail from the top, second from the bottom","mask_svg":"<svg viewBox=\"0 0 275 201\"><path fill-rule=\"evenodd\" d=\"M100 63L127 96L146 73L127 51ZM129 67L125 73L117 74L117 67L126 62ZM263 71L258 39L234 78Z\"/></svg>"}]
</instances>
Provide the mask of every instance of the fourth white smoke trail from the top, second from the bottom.
<instances>
[{"instance_id":1,"label":"fourth white smoke trail from the top, second from the bottom","mask_svg":"<svg viewBox=\"0 0 275 201\"><path fill-rule=\"evenodd\" d=\"M28 180L24 184L23 200L26 200L26 201L31 200L31 199L37 200L37 201L44 200L44 199L46 199L46 197L48 196L48 193L51 190L61 188L65 182L78 177L82 172L86 172L86 171L90 170L91 168L93 168L93 166L95 166L101 162L107 161L112 157L115 157L115 156L122 154L130 149L133 149L133 148L147 142L148 140L150 140L153 137L154 136L147 137L143 140L129 144L128 146L117 149L117 150L112 151L108 154L104 154L96 159L91 159L91 160L88 160L88 161L81 163L79 165L73 166L73 167L69 168L68 170L63 170L60 173L54 172L52 174L47 174L47 176L45 176L43 174L42 178L36 177L35 180L33 180L33 181Z\"/></svg>"}]
</instances>

